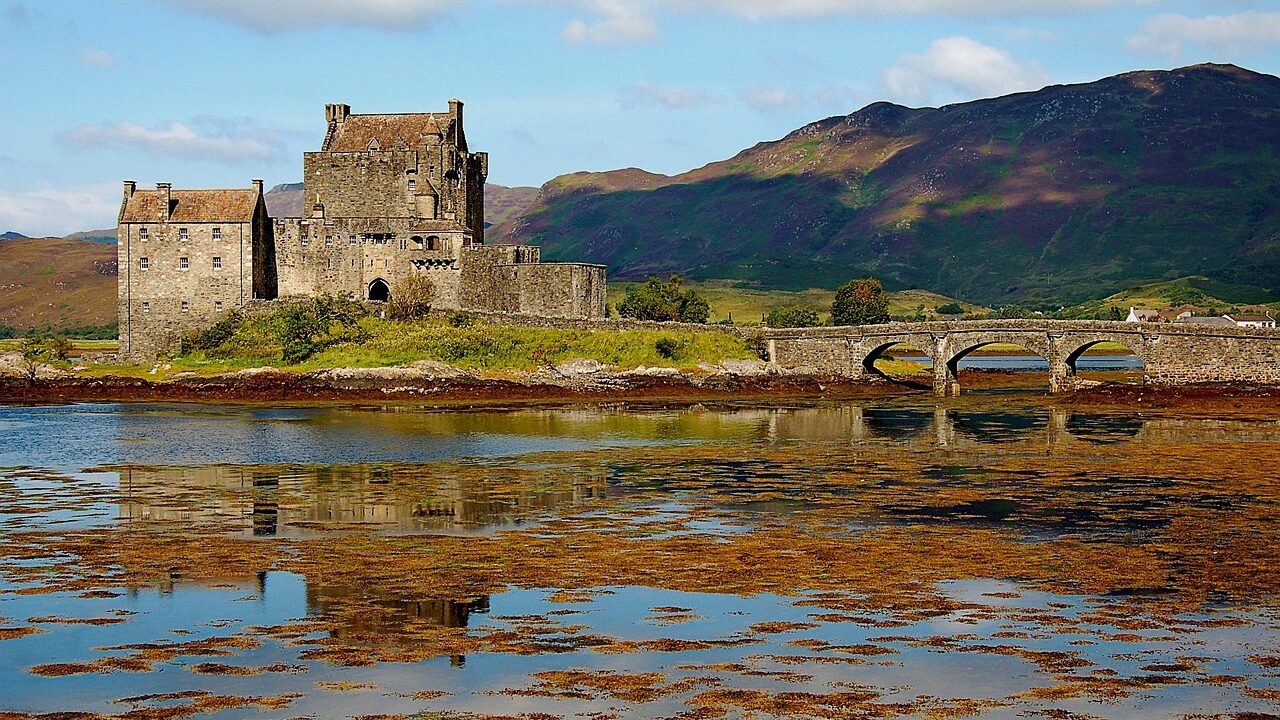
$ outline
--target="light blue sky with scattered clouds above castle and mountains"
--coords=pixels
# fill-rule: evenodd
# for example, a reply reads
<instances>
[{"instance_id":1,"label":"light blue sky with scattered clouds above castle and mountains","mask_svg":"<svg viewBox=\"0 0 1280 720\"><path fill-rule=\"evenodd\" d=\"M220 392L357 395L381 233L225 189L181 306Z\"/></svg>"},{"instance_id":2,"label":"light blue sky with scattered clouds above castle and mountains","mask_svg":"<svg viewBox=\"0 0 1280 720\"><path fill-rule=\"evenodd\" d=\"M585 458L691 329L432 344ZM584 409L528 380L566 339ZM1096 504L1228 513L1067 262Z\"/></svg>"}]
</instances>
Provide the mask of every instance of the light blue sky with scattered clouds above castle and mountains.
<instances>
[{"instance_id":1,"label":"light blue sky with scattered clouds above castle and mountains","mask_svg":"<svg viewBox=\"0 0 1280 720\"><path fill-rule=\"evenodd\" d=\"M539 186L1202 61L1280 74L1280 0L0 0L0 232L113 227L124 179L300 182L326 102L458 97L490 182Z\"/></svg>"}]
</instances>

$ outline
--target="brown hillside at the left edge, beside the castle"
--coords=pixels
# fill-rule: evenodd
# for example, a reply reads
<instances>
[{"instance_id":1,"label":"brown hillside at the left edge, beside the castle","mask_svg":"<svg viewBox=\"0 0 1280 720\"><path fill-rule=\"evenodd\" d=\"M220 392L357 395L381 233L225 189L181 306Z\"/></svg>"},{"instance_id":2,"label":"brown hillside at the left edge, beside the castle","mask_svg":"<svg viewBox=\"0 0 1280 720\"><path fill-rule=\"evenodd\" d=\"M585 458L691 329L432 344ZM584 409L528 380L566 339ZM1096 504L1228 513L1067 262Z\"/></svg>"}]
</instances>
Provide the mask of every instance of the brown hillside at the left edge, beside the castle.
<instances>
[{"instance_id":1,"label":"brown hillside at the left edge, beside the castle","mask_svg":"<svg viewBox=\"0 0 1280 720\"><path fill-rule=\"evenodd\" d=\"M61 237L0 243L0 325L115 323L115 247Z\"/></svg>"}]
</instances>

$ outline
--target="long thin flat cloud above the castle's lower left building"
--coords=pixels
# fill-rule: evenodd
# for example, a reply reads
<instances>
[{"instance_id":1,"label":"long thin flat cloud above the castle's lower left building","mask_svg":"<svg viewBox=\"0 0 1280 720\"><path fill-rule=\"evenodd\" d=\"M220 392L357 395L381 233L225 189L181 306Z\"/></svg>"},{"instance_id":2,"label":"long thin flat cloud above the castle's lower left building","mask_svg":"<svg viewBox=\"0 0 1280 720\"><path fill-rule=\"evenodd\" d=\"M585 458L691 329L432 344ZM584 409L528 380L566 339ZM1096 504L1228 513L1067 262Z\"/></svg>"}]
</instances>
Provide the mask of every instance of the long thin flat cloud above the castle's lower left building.
<instances>
[{"instance_id":1,"label":"long thin flat cloud above the castle's lower left building","mask_svg":"<svg viewBox=\"0 0 1280 720\"><path fill-rule=\"evenodd\" d=\"M202 118L195 124L198 132L178 122L155 128L123 122L110 126L84 124L61 133L59 141L78 149L124 147L159 156L232 164L271 160L283 150L278 137L244 129L236 120Z\"/></svg>"}]
</instances>

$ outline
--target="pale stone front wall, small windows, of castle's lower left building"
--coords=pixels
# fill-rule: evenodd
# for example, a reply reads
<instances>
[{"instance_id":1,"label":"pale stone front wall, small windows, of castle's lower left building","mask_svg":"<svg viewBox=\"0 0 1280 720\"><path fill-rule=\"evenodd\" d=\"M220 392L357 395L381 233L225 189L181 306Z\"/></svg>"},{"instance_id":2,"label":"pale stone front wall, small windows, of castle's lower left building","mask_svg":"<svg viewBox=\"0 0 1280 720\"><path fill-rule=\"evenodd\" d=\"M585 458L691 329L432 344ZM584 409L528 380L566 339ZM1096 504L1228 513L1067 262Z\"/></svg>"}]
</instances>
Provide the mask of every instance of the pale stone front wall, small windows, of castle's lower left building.
<instances>
[{"instance_id":1,"label":"pale stone front wall, small windows, of castle's lower left building","mask_svg":"<svg viewBox=\"0 0 1280 720\"><path fill-rule=\"evenodd\" d=\"M147 240L141 238L143 228ZM179 240L180 228L187 229L186 241ZM215 228L220 240L214 240ZM252 300L255 281L265 278L253 263L252 223L122 223L116 232L120 352L125 356L172 351L183 334ZM147 269L142 269L143 258ZM182 269L183 258L187 269ZM220 268L214 266L215 258Z\"/></svg>"}]
</instances>

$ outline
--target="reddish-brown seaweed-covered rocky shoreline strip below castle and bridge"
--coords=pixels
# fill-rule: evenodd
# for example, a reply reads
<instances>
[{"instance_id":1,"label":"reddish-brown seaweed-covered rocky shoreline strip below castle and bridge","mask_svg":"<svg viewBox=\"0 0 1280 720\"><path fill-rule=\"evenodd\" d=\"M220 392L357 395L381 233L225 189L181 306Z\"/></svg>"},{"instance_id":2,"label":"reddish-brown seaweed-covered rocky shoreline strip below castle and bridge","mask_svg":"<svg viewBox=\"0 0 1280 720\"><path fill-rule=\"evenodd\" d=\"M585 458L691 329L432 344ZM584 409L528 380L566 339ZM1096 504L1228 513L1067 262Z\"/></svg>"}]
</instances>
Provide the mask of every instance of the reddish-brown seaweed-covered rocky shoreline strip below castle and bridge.
<instances>
[{"instance_id":1,"label":"reddish-brown seaweed-covered rocky shoreline strip below castle and bridge","mask_svg":"<svg viewBox=\"0 0 1280 720\"><path fill-rule=\"evenodd\" d=\"M307 374L259 369L209 378L165 380L116 375L63 375L36 380L0 377L0 404L340 405L389 402L453 409L564 406L602 402L814 402L910 397L931 392L928 377L850 379L831 374L800 373L696 375L668 369L579 377L531 373L520 379L474 375L389 375L379 373L378 369L343 369ZM1244 384L1155 386L1124 382L1132 375L1123 373L1112 375L1096 386L1050 395L1044 373L970 369L961 372L963 392L960 397L965 397L965 391L1007 389L1042 395L1046 402L1065 407L1187 409L1198 413L1274 411L1280 402L1280 388L1272 387ZM957 401L957 398L937 400L940 404Z\"/></svg>"}]
</instances>

